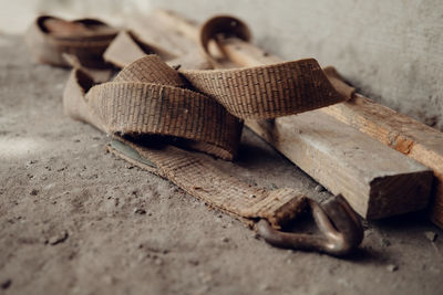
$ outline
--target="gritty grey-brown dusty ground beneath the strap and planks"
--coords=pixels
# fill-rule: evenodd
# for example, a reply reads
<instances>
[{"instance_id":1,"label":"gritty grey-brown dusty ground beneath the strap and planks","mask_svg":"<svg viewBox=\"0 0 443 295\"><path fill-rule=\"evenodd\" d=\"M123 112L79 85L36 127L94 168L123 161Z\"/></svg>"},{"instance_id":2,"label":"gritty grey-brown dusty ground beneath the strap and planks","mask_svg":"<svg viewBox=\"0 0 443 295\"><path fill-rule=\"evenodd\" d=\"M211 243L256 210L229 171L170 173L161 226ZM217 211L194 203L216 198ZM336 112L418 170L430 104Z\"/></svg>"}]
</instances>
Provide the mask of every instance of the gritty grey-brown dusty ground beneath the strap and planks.
<instances>
[{"instance_id":1,"label":"gritty grey-brown dusty ground beneath the strap and planks","mask_svg":"<svg viewBox=\"0 0 443 295\"><path fill-rule=\"evenodd\" d=\"M420 214L367 224L347 260L271 247L106 154L110 138L63 115L68 70L4 35L0 66L0 294L441 294L443 232ZM220 166L330 197L248 130Z\"/></svg>"}]
</instances>

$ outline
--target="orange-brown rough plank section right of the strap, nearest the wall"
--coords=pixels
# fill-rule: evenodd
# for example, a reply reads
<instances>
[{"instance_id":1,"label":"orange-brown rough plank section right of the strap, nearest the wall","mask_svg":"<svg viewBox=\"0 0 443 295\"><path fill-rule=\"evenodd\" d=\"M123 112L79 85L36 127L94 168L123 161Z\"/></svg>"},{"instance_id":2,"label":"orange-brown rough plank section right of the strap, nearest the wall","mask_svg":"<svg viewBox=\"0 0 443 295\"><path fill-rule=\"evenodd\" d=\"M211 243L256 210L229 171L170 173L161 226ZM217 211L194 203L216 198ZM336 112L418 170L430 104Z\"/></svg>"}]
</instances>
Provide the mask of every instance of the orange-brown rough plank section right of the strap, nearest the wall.
<instances>
[{"instance_id":1,"label":"orange-brown rough plank section right of the strap, nearest the wall","mask_svg":"<svg viewBox=\"0 0 443 295\"><path fill-rule=\"evenodd\" d=\"M361 95L322 110L431 168L436 178L431 219L443 228L443 133Z\"/></svg>"}]
</instances>

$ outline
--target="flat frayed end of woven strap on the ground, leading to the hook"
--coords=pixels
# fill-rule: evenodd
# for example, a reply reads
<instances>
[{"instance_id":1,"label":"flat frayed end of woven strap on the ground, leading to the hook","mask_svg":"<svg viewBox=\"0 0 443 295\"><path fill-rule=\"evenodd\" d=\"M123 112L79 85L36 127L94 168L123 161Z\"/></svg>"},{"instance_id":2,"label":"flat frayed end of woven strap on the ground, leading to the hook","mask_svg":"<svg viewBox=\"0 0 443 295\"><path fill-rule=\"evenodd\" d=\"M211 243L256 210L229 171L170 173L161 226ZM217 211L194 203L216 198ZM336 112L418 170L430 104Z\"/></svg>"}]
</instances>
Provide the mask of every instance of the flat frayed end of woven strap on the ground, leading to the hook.
<instances>
[{"instance_id":1,"label":"flat frayed end of woven strap on the ground, leading to the hook","mask_svg":"<svg viewBox=\"0 0 443 295\"><path fill-rule=\"evenodd\" d=\"M141 145L122 137L113 140L109 150L250 225L256 219L266 219L278 229L307 204L307 198L296 190L268 191L239 181L216 168L216 159L200 152L158 141Z\"/></svg>"}]
</instances>

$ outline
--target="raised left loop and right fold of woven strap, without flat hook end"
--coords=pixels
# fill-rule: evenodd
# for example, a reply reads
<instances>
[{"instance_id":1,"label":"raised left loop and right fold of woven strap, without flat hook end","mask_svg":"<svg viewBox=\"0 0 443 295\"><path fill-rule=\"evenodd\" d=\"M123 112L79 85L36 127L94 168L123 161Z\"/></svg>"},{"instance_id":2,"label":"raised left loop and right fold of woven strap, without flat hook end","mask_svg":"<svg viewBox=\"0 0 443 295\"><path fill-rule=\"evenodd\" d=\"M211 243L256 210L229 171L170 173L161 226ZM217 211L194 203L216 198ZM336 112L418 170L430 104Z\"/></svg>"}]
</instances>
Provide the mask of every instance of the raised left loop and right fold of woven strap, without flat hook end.
<instances>
[{"instance_id":1,"label":"raised left loop and right fold of woven strap, without flat hook end","mask_svg":"<svg viewBox=\"0 0 443 295\"><path fill-rule=\"evenodd\" d=\"M146 55L124 67L113 82L92 87L85 101L96 117L94 125L109 134L182 137L193 140L199 150L233 159L241 133L239 119L274 118L344 99L319 66L309 71L312 64L313 60L303 60L243 70L178 73L158 56ZM293 78L299 73L293 69L305 65L305 75L309 75ZM83 86L87 91L93 82L80 70L70 81L65 105L71 106L73 101L75 106L76 99L71 98L75 91L71 88ZM190 86L199 92L186 88ZM309 99L301 95L303 91Z\"/></svg>"}]
</instances>

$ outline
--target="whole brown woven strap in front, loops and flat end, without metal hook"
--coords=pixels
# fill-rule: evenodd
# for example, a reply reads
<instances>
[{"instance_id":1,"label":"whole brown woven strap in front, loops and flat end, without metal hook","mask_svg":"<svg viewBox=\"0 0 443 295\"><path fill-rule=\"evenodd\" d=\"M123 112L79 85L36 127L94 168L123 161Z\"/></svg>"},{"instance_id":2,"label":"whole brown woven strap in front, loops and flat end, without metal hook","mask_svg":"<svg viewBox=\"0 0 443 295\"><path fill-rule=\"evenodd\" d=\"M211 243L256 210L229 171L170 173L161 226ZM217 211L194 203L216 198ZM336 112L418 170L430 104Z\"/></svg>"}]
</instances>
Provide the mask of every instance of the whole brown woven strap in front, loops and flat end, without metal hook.
<instances>
[{"instance_id":1,"label":"whole brown woven strap in front, loops and flat end, without metal hook","mask_svg":"<svg viewBox=\"0 0 443 295\"><path fill-rule=\"evenodd\" d=\"M130 34L117 40L138 46L128 51L135 55L146 52ZM122 54L121 49L111 45L106 60ZM117 65L128 61L120 55ZM99 85L74 69L63 96L66 114L119 139L109 147L114 154L210 206L247 220L266 219L275 228L300 212L306 197L291 189L250 187L217 169L215 159L189 149L234 159L243 119L297 114L347 98L312 59L250 69L176 71L157 55L142 56L112 82Z\"/></svg>"}]
</instances>

